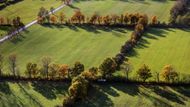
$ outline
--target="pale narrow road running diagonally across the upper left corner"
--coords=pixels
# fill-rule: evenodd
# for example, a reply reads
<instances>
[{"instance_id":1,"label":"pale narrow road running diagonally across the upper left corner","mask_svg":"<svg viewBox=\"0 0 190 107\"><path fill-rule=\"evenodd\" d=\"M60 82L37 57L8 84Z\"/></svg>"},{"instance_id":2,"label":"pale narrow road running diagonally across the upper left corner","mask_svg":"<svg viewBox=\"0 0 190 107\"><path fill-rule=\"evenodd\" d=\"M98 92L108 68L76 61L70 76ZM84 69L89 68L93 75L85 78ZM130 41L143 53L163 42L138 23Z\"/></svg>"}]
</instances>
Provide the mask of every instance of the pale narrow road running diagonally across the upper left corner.
<instances>
[{"instance_id":1,"label":"pale narrow road running diagonally across the upper left corner","mask_svg":"<svg viewBox=\"0 0 190 107\"><path fill-rule=\"evenodd\" d=\"M69 4L72 4L72 0L71 0L71 2L70 2ZM53 14L53 13L59 11L60 9L62 9L62 8L65 7L65 6L67 6L67 5L66 5L66 4L63 4L63 5L59 6L58 8L54 9L53 12L49 12L48 15L51 15L51 14ZM18 31L14 31L14 32L12 32L11 34L6 35L5 37L3 37L3 38L0 39L0 44L3 43L4 41L8 40L8 39L11 38L12 36L16 35L18 32L21 32L21 31L23 31L24 29L27 29L28 27L30 27L30 26L32 26L32 25L34 25L34 24L36 24L36 23L37 23L37 20L34 20L34 21L30 22L29 24L25 25L24 27L20 28Z\"/></svg>"}]
</instances>

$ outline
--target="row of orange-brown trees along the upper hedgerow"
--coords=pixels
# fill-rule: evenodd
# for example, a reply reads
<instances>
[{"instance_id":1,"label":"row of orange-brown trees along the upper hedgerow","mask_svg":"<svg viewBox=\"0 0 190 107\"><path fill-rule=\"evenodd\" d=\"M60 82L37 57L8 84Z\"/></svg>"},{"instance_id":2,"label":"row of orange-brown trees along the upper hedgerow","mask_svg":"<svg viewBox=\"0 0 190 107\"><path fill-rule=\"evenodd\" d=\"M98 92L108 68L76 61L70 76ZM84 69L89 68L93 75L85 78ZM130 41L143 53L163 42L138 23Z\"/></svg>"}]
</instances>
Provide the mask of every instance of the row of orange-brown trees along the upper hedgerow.
<instances>
[{"instance_id":1,"label":"row of orange-brown trees along the upper hedgerow","mask_svg":"<svg viewBox=\"0 0 190 107\"><path fill-rule=\"evenodd\" d=\"M121 14L121 15L105 15L101 16L98 13L94 13L92 16L85 16L80 10L76 10L71 18L66 19L66 15L61 12L59 15L49 15L45 8L41 8L38 14L38 23L53 23L57 24L98 24L98 25L110 25L110 24L124 24L124 25L136 25L141 19L142 15L136 14ZM157 17L153 16L151 24L157 24Z\"/></svg>"}]
</instances>

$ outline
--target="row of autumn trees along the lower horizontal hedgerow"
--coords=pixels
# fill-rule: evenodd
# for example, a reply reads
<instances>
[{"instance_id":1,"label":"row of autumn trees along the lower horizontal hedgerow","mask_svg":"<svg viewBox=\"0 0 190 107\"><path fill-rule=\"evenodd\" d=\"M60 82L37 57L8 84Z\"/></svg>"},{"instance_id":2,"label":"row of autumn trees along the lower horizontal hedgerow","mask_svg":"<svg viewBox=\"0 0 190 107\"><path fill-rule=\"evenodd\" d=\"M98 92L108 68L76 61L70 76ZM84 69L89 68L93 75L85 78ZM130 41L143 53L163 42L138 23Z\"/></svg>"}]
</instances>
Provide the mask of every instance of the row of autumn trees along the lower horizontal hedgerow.
<instances>
[{"instance_id":1,"label":"row of autumn trees along the lower horizontal hedgerow","mask_svg":"<svg viewBox=\"0 0 190 107\"><path fill-rule=\"evenodd\" d=\"M0 55L0 76L3 76L3 67L4 67L4 57ZM19 76L19 69L17 66L17 56L15 54L11 54L8 57L8 64L10 71L12 72L14 77ZM80 62L76 62L74 66L69 67L66 64L55 64L52 63L50 57L43 57L41 59L41 66L38 66L36 63L27 63L25 74L28 78L47 78L47 79L65 79L65 78L75 78L79 75L84 76L87 80L98 80L100 78L107 79L112 78L113 73L116 72L117 66L120 66L121 69L126 74L126 79L128 79L129 73L132 71L131 64L128 62L123 63L122 65L118 65L114 58L106 58L100 66L92 67L88 70L85 70L84 65ZM156 73L160 74L160 73ZM178 76L176 71L173 69L171 65L166 65L162 72L163 78L170 82ZM150 69L147 65L143 65L137 71L137 77L142 79L143 81L152 77ZM159 82L159 75L156 75L157 81Z\"/></svg>"}]
</instances>

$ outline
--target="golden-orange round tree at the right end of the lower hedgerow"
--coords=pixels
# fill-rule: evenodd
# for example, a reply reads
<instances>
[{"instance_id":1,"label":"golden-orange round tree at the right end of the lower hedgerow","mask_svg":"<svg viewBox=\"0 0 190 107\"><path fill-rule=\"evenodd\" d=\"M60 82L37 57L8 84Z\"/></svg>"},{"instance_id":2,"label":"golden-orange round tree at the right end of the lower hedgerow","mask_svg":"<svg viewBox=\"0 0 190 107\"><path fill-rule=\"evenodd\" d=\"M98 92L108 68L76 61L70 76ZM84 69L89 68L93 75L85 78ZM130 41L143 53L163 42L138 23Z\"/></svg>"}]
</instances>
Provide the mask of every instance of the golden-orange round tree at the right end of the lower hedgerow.
<instances>
[{"instance_id":1,"label":"golden-orange round tree at the right end of the lower hedgerow","mask_svg":"<svg viewBox=\"0 0 190 107\"><path fill-rule=\"evenodd\" d=\"M167 81L167 82L174 82L178 79L178 73L175 71L175 69L171 65L164 66L163 70L161 71L161 76Z\"/></svg>"}]
</instances>

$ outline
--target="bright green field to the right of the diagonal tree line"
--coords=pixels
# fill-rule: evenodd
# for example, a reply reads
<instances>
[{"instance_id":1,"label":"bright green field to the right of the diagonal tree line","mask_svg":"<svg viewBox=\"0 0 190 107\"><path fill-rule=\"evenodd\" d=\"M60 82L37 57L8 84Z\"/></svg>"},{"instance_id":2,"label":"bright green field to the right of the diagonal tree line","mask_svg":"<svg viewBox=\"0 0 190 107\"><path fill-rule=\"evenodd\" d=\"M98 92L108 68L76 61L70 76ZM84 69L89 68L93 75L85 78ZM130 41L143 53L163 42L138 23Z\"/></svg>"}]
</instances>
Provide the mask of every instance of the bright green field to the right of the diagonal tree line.
<instances>
[{"instance_id":1,"label":"bright green field to the right of the diagonal tree line","mask_svg":"<svg viewBox=\"0 0 190 107\"><path fill-rule=\"evenodd\" d=\"M134 71L147 64L152 72L159 72L171 64L176 71L190 74L190 29L150 29L140 45L131 53L129 61Z\"/></svg>"}]
</instances>

